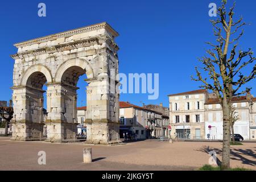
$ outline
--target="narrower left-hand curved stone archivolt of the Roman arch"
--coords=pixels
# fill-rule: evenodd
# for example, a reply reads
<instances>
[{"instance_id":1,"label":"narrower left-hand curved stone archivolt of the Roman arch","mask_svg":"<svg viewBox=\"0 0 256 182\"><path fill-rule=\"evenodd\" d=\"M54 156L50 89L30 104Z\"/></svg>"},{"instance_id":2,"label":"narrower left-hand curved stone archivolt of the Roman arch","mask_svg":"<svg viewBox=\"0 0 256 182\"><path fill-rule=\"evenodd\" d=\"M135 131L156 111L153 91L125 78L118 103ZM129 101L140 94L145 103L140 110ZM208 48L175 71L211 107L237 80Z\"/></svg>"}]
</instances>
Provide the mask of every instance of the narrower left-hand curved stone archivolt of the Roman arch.
<instances>
[{"instance_id":1,"label":"narrower left-hand curved stone archivolt of the Roman arch","mask_svg":"<svg viewBox=\"0 0 256 182\"><path fill-rule=\"evenodd\" d=\"M46 80L48 83L52 82L52 75L51 72L49 71L49 69L47 67L45 67L42 64L35 64L32 65L31 67L29 67L26 72L24 73L22 80L20 82L21 86L26 86L27 85L27 81L28 78L35 72L40 72L43 73L43 75L46 77Z\"/></svg>"}]
</instances>

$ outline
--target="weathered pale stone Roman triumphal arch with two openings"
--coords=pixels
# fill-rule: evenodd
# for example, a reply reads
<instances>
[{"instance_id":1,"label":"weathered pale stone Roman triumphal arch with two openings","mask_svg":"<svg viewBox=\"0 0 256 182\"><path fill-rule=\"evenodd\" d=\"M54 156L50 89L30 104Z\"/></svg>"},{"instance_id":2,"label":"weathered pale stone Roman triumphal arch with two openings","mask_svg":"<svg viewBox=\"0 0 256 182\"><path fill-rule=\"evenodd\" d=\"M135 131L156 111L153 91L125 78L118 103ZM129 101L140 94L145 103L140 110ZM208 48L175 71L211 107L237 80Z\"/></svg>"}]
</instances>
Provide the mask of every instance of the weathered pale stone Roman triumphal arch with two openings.
<instances>
[{"instance_id":1,"label":"weathered pale stone Roman triumphal arch with two openings","mask_svg":"<svg viewBox=\"0 0 256 182\"><path fill-rule=\"evenodd\" d=\"M77 133L79 76L86 74L88 143L119 142L118 33L108 23L17 43L12 140L67 142ZM43 86L47 86L47 115ZM47 138L44 138L44 125Z\"/></svg>"}]
</instances>

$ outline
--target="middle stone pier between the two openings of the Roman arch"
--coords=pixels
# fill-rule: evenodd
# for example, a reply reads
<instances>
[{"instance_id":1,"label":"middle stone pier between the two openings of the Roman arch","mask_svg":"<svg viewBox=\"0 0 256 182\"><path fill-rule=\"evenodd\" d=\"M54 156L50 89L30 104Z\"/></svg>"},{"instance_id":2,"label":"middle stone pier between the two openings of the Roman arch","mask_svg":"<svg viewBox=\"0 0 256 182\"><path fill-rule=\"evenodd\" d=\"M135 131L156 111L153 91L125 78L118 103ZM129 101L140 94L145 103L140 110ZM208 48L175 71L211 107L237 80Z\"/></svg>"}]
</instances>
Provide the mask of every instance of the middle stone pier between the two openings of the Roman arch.
<instances>
[{"instance_id":1,"label":"middle stone pier between the two openings of the Roman arch","mask_svg":"<svg viewBox=\"0 0 256 182\"><path fill-rule=\"evenodd\" d=\"M76 140L76 93L63 84L51 84L47 89L47 142Z\"/></svg>"}]
</instances>

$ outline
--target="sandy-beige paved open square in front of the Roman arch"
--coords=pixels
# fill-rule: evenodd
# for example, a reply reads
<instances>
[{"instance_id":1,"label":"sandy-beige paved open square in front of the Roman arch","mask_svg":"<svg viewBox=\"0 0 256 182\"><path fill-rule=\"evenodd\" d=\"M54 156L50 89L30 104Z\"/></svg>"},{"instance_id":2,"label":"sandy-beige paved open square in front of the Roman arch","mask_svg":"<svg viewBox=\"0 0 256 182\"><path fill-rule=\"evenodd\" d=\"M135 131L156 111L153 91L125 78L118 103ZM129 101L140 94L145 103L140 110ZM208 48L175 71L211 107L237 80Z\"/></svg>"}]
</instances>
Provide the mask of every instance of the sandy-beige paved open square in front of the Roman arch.
<instances>
[{"instance_id":1,"label":"sandy-beige paved open square in front of the Roman arch","mask_svg":"<svg viewBox=\"0 0 256 182\"><path fill-rule=\"evenodd\" d=\"M93 163L82 163L82 149L92 147ZM84 143L10 141L0 137L0 170L196 170L208 164L219 142L160 142L144 140L118 146ZM256 143L231 147L231 166L256 169ZM38 152L46 152L46 165L38 164Z\"/></svg>"}]
</instances>

